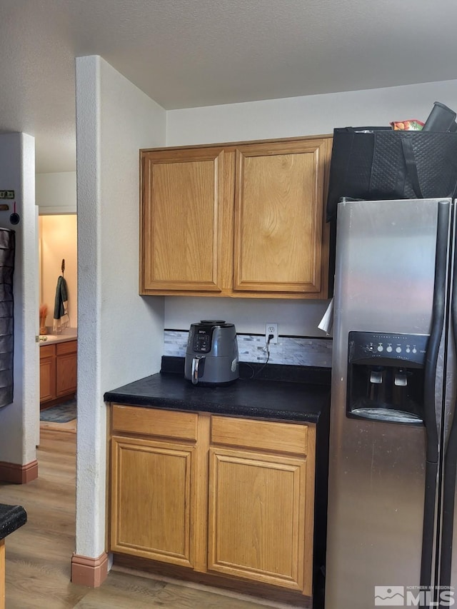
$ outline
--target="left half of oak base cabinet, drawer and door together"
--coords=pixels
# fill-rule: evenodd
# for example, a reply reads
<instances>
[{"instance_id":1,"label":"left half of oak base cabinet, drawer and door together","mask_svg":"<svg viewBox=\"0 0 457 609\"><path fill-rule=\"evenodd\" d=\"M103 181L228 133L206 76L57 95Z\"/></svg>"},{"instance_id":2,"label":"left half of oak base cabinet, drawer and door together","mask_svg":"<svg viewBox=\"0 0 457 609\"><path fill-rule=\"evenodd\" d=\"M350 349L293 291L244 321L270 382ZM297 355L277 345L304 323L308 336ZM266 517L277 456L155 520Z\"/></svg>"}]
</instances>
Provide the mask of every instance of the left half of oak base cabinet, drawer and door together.
<instances>
[{"instance_id":1,"label":"left half of oak base cabinet, drawer and door together","mask_svg":"<svg viewBox=\"0 0 457 609\"><path fill-rule=\"evenodd\" d=\"M203 570L205 426L196 413L112 406L112 552Z\"/></svg>"}]
</instances>

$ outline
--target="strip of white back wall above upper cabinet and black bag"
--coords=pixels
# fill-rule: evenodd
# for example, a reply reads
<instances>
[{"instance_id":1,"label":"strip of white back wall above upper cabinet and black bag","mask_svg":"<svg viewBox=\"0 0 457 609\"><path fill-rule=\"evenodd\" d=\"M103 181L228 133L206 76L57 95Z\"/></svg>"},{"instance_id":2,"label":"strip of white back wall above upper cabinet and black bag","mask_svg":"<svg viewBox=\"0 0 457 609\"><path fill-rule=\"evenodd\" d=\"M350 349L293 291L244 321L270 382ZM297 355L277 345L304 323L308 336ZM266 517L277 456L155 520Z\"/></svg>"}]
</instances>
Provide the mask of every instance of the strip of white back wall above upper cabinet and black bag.
<instances>
[{"instance_id":1,"label":"strip of white back wall above upper cabinet and black bag","mask_svg":"<svg viewBox=\"0 0 457 609\"><path fill-rule=\"evenodd\" d=\"M434 101L457 108L457 80L171 110L167 146L331 134L334 127L424 121Z\"/></svg>"}]
</instances>

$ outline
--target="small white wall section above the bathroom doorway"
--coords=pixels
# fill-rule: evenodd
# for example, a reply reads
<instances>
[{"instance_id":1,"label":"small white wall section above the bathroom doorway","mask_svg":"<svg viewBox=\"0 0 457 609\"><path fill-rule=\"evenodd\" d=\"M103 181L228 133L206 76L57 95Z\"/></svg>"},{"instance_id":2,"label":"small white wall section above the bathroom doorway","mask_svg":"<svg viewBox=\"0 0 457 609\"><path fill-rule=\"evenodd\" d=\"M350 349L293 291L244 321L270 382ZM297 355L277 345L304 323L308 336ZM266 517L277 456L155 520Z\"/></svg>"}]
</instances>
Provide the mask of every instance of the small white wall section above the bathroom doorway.
<instances>
[{"instance_id":1,"label":"small white wall section above the bathroom doorway","mask_svg":"<svg viewBox=\"0 0 457 609\"><path fill-rule=\"evenodd\" d=\"M36 205L43 213L76 213L76 171L36 174Z\"/></svg>"}]
</instances>

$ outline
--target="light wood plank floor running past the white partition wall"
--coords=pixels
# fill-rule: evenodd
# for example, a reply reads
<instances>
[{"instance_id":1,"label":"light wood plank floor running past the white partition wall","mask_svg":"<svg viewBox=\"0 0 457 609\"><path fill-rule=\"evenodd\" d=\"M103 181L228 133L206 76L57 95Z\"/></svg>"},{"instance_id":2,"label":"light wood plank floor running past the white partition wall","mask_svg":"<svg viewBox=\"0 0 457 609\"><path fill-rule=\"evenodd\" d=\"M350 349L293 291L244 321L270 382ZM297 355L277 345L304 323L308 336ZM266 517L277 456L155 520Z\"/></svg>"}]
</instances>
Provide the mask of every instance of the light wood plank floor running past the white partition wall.
<instances>
[{"instance_id":1,"label":"light wood plank floor running past the white partition wall","mask_svg":"<svg viewBox=\"0 0 457 609\"><path fill-rule=\"evenodd\" d=\"M39 478L0 483L0 503L23 505L28 521L6 538L6 609L261 609L287 607L214 589L112 570L100 588L70 582L74 551L74 433L41 429Z\"/></svg>"}]
</instances>

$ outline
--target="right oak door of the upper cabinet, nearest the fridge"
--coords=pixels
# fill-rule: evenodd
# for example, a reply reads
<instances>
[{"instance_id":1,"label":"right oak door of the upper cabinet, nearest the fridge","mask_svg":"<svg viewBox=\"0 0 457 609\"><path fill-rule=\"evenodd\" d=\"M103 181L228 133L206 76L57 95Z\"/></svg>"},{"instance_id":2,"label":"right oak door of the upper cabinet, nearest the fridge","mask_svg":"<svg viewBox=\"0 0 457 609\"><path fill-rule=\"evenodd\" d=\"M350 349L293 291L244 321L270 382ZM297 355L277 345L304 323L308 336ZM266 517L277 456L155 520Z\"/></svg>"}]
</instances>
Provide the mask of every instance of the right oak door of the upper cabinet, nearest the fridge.
<instances>
[{"instance_id":1,"label":"right oak door of the upper cabinet, nearest the fridge","mask_svg":"<svg viewBox=\"0 0 457 609\"><path fill-rule=\"evenodd\" d=\"M323 198L330 154L328 138L238 146L234 291L326 298Z\"/></svg>"}]
</instances>

